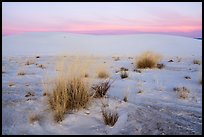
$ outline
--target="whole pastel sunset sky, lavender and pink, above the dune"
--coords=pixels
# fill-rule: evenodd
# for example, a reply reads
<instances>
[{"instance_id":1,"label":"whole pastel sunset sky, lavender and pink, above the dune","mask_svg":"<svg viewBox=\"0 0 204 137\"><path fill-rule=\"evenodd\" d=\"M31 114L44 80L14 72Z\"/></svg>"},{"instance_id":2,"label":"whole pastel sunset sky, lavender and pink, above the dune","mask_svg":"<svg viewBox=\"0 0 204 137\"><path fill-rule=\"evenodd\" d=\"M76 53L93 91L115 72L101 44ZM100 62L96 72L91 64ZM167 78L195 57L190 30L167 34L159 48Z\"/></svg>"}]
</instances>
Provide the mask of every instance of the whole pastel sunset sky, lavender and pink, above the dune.
<instances>
[{"instance_id":1,"label":"whole pastel sunset sky, lavender and pink, above the dune","mask_svg":"<svg viewBox=\"0 0 204 137\"><path fill-rule=\"evenodd\" d=\"M2 3L2 34L165 33L202 37L201 2Z\"/></svg>"}]
</instances>

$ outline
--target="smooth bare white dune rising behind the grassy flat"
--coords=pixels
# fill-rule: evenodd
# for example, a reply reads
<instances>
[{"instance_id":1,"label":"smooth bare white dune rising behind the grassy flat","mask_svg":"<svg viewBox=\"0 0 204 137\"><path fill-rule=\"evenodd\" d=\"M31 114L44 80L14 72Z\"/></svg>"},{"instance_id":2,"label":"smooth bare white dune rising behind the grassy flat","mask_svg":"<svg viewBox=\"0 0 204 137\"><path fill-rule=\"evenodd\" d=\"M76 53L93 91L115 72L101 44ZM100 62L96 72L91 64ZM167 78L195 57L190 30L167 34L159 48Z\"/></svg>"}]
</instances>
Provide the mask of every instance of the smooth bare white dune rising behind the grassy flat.
<instances>
[{"instance_id":1,"label":"smooth bare white dune rising behind the grassy flat","mask_svg":"<svg viewBox=\"0 0 204 137\"><path fill-rule=\"evenodd\" d=\"M146 50L166 56L202 56L202 40L158 34L85 35L30 32L2 37L3 56L99 55L134 56Z\"/></svg>"}]
</instances>

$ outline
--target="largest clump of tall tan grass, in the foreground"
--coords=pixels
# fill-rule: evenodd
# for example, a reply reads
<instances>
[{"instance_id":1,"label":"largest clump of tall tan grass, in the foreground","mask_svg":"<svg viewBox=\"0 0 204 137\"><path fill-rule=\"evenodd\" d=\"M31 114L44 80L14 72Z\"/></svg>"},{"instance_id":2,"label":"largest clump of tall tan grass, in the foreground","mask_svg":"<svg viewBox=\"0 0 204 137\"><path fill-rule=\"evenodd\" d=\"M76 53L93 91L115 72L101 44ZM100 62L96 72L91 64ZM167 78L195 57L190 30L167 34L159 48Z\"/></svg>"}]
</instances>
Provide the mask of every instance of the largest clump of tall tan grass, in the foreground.
<instances>
[{"instance_id":1,"label":"largest clump of tall tan grass, in the foreground","mask_svg":"<svg viewBox=\"0 0 204 137\"><path fill-rule=\"evenodd\" d=\"M64 114L70 110L85 108L89 102L86 83L79 77L69 80L58 79L53 93L48 94L50 108L54 111L54 120L63 120Z\"/></svg>"}]
</instances>

